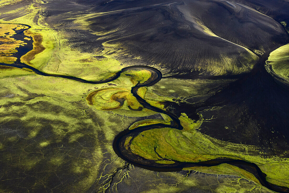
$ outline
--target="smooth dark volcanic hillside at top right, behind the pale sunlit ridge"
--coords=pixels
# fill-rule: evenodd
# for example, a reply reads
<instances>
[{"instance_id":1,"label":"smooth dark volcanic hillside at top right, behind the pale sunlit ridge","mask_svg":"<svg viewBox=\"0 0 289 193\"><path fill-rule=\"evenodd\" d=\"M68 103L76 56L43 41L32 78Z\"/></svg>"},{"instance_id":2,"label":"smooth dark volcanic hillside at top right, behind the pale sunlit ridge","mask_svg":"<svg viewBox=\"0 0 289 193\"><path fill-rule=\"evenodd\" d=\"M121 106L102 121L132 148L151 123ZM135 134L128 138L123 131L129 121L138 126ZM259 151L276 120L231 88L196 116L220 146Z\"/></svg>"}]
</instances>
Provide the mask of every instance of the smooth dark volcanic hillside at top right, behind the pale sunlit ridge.
<instances>
[{"instance_id":1,"label":"smooth dark volcanic hillside at top right, behind the pale sunlit ridge","mask_svg":"<svg viewBox=\"0 0 289 193\"><path fill-rule=\"evenodd\" d=\"M192 2L192 7L195 4ZM201 13L205 25L218 36L253 52L263 54L287 39L283 26L248 6L229 1L208 4L210 6Z\"/></svg>"}]
</instances>

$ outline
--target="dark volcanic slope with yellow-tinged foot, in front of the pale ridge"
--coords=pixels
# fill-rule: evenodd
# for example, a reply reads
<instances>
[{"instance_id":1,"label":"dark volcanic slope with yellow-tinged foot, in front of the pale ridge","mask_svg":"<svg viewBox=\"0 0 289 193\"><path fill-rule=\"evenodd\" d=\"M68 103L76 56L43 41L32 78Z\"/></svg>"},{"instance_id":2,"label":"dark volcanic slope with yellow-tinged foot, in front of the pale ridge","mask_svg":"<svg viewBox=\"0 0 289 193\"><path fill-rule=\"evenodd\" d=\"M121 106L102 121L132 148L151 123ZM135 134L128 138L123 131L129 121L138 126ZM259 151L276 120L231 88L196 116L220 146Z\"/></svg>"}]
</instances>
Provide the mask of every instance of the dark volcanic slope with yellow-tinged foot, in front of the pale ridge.
<instances>
[{"instance_id":1,"label":"dark volcanic slope with yellow-tinged foot, in front of the pale ridge","mask_svg":"<svg viewBox=\"0 0 289 193\"><path fill-rule=\"evenodd\" d=\"M252 68L257 59L252 52L217 37L198 19L186 20L179 6L168 3L101 14L89 19L90 29L104 33L103 41L114 49L172 72L223 75Z\"/></svg>"}]
</instances>

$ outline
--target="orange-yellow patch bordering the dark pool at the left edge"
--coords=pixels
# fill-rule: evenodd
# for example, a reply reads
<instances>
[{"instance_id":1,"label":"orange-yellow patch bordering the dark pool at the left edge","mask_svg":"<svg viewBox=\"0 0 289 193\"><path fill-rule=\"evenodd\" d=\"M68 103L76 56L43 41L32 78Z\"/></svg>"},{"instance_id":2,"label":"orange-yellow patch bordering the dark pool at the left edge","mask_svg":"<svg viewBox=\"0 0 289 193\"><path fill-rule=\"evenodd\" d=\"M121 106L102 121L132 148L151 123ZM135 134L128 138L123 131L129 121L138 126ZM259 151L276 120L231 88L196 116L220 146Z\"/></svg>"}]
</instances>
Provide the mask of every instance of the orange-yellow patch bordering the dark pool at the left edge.
<instances>
[{"instance_id":1,"label":"orange-yellow patch bordering the dark pool at the left edge","mask_svg":"<svg viewBox=\"0 0 289 193\"><path fill-rule=\"evenodd\" d=\"M24 46L26 43L16 40L12 36L16 34L16 30L27 29L27 26L19 24L3 24L0 23L0 63L12 64L16 61L16 57L12 54L16 53L16 48Z\"/></svg>"}]
</instances>

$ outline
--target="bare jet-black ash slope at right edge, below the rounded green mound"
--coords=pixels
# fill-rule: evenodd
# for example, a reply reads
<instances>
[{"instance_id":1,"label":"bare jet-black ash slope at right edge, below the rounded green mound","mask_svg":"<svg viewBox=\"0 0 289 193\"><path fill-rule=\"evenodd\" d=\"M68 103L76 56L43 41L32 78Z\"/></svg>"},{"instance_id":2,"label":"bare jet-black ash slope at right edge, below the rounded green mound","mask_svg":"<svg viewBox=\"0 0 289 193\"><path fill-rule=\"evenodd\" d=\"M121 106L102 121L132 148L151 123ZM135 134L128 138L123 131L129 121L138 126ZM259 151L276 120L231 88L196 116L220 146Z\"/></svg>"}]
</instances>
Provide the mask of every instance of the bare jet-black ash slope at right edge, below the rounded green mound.
<instances>
[{"instance_id":1,"label":"bare jet-black ash slope at right edge, below the rounded green mound","mask_svg":"<svg viewBox=\"0 0 289 193\"><path fill-rule=\"evenodd\" d=\"M259 70L213 95L204 106L215 106L215 110L198 110L204 117L214 116L201 130L218 139L282 154L289 149L289 91L274 82L265 69Z\"/></svg>"}]
</instances>

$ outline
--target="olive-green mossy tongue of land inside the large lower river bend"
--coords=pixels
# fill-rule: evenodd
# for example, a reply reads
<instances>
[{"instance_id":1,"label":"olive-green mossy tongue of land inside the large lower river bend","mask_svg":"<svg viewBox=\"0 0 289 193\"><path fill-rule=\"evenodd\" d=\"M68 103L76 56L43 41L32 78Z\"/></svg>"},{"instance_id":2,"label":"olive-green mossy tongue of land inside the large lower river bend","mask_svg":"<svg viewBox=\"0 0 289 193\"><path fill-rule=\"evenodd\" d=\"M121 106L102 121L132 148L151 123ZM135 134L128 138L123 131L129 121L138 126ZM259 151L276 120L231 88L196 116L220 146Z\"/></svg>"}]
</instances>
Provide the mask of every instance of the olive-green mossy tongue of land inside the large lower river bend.
<instances>
[{"instance_id":1,"label":"olive-green mossy tongue of land inside the large lower river bend","mask_svg":"<svg viewBox=\"0 0 289 193\"><path fill-rule=\"evenodd\" d=\"M132 140L130 146L132 152L147 159L166 158L181 162L199 162L221 157L242 159L256 163L268 175L269 181L275 182L277 185L289 185L286 180L284 181L288 178L288 172L285 172L289 168L288 159L268 158L265 153L254 146L229 143L198 132L196 129L202 123L201 115L201 120L197 122L190 120L184 113L179 119L184 127L183 130L157 128L143 131ZM155 151L161 158L156 155ZM274 170L271 169L272 164ZM209 170L219 170L220 167ZM238 168L228 169L226 167L226 170L222 168L221 173L226 173L228 170L235 171L235 175L256 181L247 172Z\"/></svg>"}]
</instances>

